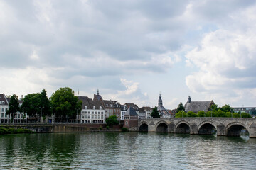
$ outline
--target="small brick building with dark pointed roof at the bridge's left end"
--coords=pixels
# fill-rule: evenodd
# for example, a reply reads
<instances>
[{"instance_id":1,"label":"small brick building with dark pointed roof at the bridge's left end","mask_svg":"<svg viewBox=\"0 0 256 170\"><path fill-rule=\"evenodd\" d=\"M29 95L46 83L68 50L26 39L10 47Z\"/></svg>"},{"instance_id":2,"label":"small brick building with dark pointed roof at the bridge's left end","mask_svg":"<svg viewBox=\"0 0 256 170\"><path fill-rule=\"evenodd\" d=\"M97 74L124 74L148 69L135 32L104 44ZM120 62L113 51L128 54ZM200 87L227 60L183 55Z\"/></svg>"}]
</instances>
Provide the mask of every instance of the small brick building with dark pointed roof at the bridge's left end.
<instances>
[{"instance_id":1,"label":"small brick building with dark pointed roof at the bridge's left end","mask_svg":"<svg viewBox=\"0 0 256 170\"><path fill-rule=\"evenodd\" d=\"M124 128L137 128L138 114L134 108L129 107L124 115Z\"/></svg>"}]
</instances>

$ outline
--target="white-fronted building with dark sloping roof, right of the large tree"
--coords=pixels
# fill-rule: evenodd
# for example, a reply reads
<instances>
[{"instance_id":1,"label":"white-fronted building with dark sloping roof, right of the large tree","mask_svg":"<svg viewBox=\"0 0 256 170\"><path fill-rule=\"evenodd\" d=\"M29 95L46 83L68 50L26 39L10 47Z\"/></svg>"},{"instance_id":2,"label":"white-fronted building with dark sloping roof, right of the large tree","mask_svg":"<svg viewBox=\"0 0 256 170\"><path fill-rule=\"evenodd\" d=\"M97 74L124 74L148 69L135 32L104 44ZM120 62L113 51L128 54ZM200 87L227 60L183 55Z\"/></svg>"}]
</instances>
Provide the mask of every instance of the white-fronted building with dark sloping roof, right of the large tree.
<instances>
[{"instance_id":1,"label":"white-fronted building with dark sloping roof, right of the large tree","mask_svg":"<svg viewBox=\"0 0 256 170\"><path fill-rule=\"evenodd\" d=\"M105 108L100 101L94 101L87 96L78 96L82 101L80 123L105 123Z\"/></svg>"}]
</instances>

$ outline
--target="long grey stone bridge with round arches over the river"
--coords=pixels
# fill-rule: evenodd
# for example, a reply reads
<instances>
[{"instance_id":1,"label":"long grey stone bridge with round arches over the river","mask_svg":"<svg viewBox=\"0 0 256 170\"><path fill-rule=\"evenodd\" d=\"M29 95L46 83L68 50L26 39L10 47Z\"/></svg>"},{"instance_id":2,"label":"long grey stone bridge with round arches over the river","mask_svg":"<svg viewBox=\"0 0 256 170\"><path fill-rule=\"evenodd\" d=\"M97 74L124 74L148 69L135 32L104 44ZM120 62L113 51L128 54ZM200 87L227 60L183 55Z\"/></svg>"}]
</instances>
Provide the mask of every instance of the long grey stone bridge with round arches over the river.
<instances>
[{"instance_id":1,"label":"long grey stone bridge with round arches over the river","mask_svg":"<svg viewBox=\"0 0 256 170\"><path fill-rule=\"evenodd\" d=\"M256 118L154 118L139 120L142 132L170 132L189 134L212 134L218 136L240 136L247 130L249 137L256 137Z\"/></svg>"}]
</instances>

